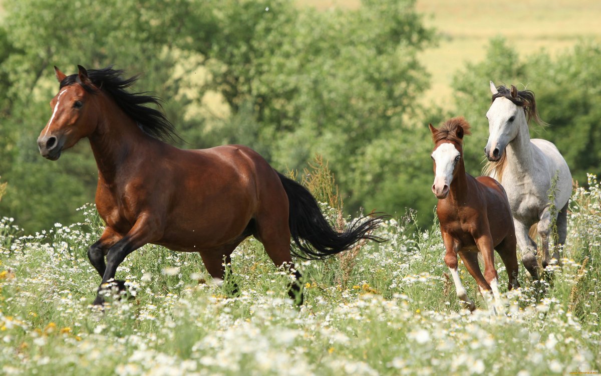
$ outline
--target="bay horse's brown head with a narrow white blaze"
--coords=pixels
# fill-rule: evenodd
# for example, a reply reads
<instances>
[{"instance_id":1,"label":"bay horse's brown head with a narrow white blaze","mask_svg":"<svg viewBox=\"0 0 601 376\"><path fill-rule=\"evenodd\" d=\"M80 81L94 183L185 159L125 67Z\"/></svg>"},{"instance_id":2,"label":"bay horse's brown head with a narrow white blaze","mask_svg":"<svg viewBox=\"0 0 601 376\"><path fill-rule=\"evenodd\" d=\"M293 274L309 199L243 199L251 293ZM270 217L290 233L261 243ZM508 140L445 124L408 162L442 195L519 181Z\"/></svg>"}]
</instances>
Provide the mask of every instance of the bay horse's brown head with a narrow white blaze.
<instances>
[{"instance_id":1,"label":"bay horse's brown head with a narrow white blaze","mask_svg":"<svg viewBox=\"0 0 601 376\"><path fill-rule=\"evenodd\" d=\"M78 67L78 74L69 76L72 79L54 67L61 87L50 100L52 116L37 140L41 155L52 161L96 129L94 93L98 88L88 78L85 68Z\"/></svg>"}]
</instances>

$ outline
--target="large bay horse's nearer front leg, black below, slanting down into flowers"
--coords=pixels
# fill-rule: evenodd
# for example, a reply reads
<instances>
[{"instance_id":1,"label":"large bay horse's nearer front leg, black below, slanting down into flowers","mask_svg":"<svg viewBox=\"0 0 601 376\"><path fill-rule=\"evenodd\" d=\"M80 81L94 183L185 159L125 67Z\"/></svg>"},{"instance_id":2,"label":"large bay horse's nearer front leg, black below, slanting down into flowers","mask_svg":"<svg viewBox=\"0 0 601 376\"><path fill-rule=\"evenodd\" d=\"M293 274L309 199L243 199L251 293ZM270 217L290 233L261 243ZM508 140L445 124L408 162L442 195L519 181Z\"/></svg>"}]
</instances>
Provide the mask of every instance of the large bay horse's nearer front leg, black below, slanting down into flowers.
<instances>
[{"instance_id":1,"label":"large bay horse's nearer front leg, black below, slanting down into flowers","mask_svg":"<svg viewBox=\"0 0 601 376\"><path fill-rule=\"evenodd\" d=\"M138 217L138 220L136 220L136 223L133 225L132 229L129 230L127 235L116 242L106 254L105 273L103 273L102 282L100 282L94 304L104 303L105 300L102 297L102 290L106 287L106 283L108 283L109 280L115 278L117 267L123 262L125 257L139 247L142 247L142 245L159 240L162 233L163 226L159 218L145 214ZM120 289L124 288L122 281L118 281L117 283Z\"/></svg>"}]
</instances>

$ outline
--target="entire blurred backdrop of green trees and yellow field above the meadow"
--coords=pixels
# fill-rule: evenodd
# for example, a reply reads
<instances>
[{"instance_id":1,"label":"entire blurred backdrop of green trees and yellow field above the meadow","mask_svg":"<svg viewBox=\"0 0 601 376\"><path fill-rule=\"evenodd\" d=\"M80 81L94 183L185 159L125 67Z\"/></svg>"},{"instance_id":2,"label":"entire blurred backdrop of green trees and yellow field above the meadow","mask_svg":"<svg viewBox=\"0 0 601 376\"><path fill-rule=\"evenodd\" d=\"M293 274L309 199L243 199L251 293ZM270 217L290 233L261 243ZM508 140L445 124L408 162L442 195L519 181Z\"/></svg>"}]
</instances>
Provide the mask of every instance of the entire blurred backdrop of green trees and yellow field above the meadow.
<instances>
[{"instance_id":1,"label":"entire blurred backdrop of green trees and yellow field above the meadow","mask_svg":"<svg viewBox=\"0 0 601 376\"><path fill-rule=\"evenodd\" d=\"M599 16L591 0L0 2L0 215L35 232L93 200L85 141L55 163L35 146L53 65L141 74L133 90L165 100L178 146L246 144L300 173L321 155L347 213L411 208L423 227L436 204L426 125L465 116L479 174L488 82L517 84L551 125L532 135L586 185L601 172Z\"/></svg>"}]
</instances>

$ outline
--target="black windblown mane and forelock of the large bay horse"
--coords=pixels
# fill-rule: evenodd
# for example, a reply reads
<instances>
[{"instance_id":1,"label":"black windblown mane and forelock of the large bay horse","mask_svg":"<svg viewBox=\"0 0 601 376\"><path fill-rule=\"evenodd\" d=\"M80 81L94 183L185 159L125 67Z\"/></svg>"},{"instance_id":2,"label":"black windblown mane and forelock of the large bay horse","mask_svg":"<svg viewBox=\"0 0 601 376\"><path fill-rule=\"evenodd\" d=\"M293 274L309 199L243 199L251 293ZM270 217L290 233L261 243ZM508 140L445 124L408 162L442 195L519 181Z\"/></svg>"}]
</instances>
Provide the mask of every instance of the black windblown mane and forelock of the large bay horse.
<instances>
[{"instance_id":1,"label":"black windblown mane and forelock of the large bay horse","mask_svg":"<svg viewBox=\"0 0 601 376\"><path fill-rule=\"evenodd\" d=\"M146 134L163 141L181 140L175 127L167 120L165 114L158 109L145 106L151 103L160 107L161 99L156 96L142 93L129 93L126 88L138 80L138 76L121 78L123 70L112 69L111 66L103 69L88 69L88 78L96 86L90 87L79 80L77 74L67 76L61 81L60 87L75 83L80 84L88 93L96 94L98 89L115 100L115 103L131 117Z\"/></svg>"}]
</instances>

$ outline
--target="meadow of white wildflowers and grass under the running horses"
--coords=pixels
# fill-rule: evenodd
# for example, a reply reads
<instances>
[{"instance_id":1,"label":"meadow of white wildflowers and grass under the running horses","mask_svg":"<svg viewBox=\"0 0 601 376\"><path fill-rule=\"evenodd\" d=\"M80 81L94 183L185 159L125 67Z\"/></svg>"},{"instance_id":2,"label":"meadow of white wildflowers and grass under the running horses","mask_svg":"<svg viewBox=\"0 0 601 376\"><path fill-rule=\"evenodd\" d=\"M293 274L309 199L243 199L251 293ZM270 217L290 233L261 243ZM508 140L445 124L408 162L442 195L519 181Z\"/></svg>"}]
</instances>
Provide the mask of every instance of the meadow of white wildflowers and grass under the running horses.
<instances>
[{"instance_id":1,"label":"meadow of white wildflowers and grass under the running horses","mask_svg":"<svg viewBox=\"0 0 601 376\"><path fill-rule=\"evenodd\" d=\"M333 222L337 211L323 205ZM562 266L491 315L460 264L478 309L461 309L439 228L414 214L387 220L367 242L325 261L297 260L305 304L260 242L233 254L225 281L194 253L146 245L117 276L127 293L91 306L99 283L87 247L100 235L93 205L81 222L22 236L0 223L0 374L4 375L565 375L601 369L601 187L576 188ZM346 218L350 221L352 218ZM239 293L232 293L233 282ZM115 290L116 291L116 290Z\"/></svg>"}]
</instances>

